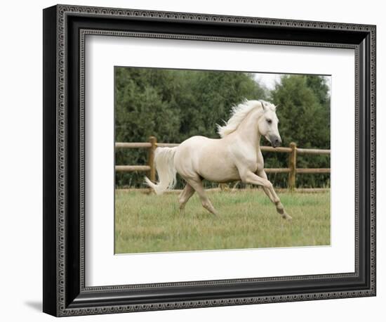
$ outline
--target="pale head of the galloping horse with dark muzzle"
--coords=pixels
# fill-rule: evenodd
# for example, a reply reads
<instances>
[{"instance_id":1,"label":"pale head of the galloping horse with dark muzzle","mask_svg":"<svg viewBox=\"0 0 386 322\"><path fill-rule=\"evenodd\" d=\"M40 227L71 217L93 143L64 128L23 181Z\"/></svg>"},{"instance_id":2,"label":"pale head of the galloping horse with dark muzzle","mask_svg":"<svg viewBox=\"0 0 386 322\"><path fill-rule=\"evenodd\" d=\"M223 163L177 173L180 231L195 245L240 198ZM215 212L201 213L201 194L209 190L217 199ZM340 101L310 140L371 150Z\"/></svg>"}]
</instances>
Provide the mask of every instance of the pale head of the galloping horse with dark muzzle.
<instances>
[{"instance_id":1,"label":"pale head of the galloping horse with dark muzzle","mask_svg":"<svg viewBox=\"0 0 386 322\"><path fill-rule=\"evenodd\" d=\"M260 101L260 103L264 112L258 121L258 131L276 148L281 144L279 129L277 128L279 119L276 115L276 106L265 101Z\"/></svg>"}]
</instances>

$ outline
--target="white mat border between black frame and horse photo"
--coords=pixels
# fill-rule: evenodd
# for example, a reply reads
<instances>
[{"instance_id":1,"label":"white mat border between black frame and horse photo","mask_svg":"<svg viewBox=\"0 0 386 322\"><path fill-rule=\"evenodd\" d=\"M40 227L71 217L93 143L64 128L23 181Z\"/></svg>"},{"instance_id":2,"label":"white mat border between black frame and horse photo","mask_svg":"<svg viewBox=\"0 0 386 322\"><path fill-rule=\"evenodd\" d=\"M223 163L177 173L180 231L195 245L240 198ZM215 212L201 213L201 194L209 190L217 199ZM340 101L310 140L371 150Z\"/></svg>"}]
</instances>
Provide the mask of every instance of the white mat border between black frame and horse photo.
<instances>
[{"instance_id":1,"label":"white mat border between black frame and horse photo","mask_svg":"<svg viewBox=\"0 0 386 322\"><path fill-rule=\"evenodd\" d=\"M87 286L355 270L354 50L93 36L86 53ZM114 65L332 75L331 246L114 256Z\"/></svg>"}]
</instances>

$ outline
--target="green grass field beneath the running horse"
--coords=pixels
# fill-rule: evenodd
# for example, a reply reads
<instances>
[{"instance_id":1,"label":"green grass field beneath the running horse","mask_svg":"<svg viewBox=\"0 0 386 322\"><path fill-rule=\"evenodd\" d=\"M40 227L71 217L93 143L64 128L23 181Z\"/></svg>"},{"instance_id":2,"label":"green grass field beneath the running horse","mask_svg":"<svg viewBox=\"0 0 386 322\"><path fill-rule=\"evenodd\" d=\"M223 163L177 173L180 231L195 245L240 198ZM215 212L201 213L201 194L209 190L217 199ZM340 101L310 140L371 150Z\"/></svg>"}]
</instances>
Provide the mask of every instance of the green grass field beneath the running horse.
<instances>
[{"instance_id":1,"label":"green grass field beneath the running horse","mask_svg":"<svg viewBox=\"0 0 386 322\"><path fill-rule=\"evenodd\" d=\"M330 245L330 193L279 193L292 221L260 190L208 193L219 216L195 194L185 212L178 195L115 193L115 253Z\"/></svg>"}]
</instances>

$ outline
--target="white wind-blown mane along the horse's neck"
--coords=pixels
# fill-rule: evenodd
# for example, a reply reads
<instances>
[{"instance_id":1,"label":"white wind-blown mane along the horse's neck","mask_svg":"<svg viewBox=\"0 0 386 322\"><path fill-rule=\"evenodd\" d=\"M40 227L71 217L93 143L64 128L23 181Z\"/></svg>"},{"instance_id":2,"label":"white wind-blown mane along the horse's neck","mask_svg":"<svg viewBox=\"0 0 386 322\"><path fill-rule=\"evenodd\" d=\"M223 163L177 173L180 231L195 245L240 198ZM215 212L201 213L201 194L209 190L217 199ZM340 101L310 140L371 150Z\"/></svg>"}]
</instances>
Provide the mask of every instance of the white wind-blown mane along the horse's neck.
<instances>
[{"instance_id":1,"label":"white wind-blown mane along the horse's neck","mask_svg":"<svg viewBox=\"0 0 386 322\"><path fill-rule=\"evenodd\" d=\"M227 122L225 122L225 125L220 126L217 124L217 132L220 134L220 137L223 138L224 136L227 136L228 134L236 131L237 127L239 127L239 124L243 122L249 112L255 108L263 108L262 104L264 104L264 108L275 110L275 106L272 103L266 101L246 100L239 105L233 106L231 117Z\"/></svg>"}]
</instances>

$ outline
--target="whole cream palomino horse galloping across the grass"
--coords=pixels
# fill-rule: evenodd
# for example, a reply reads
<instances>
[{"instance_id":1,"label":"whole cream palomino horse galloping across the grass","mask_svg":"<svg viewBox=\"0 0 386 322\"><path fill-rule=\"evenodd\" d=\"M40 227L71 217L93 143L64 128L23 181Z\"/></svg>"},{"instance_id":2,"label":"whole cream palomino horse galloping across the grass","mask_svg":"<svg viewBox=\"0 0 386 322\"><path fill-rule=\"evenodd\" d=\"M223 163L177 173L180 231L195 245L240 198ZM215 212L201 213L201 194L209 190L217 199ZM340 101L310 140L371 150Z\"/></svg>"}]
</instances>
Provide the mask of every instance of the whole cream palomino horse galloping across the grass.
<instances>
[{"instance_id":1,"label":"whole cream palomino horse galloping across the grass","mask_svg":"<svg viewBox=\"0 0 386 322\"><path fill-rule=\"evenodd\" d=\"M154 162L159 182L153 183L147 178L145 181L160 195L174 187L178 172L187 182L179 197L180 210L196 191L204 208L216 214L202 180L218 183L241 180L262 186L281 217L291 219L267 179L260 150L261 136L274 148L281 144L278 123L276 106L272 103L244 101L232 108L232 116L224 126L218 125L221 139L192 136L175 148L157 148Z\"/></svg>"}]
</instances>

